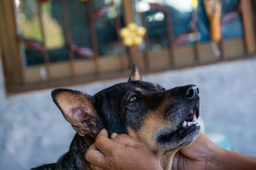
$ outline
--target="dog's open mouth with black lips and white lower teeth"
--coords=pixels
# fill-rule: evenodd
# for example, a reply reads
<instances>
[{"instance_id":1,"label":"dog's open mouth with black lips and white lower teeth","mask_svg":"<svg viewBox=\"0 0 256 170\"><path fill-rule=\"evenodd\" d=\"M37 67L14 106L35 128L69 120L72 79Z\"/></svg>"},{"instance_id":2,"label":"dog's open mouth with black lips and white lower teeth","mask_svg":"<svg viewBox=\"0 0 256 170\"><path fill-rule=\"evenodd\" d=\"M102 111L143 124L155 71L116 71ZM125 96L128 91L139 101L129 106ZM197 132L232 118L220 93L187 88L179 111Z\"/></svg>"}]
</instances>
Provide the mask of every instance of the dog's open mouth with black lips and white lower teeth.
<instances>
[{"instance_id":1,"label":"dog's open mouth with black lips and white lower teeth","mask_svg":"<svg viewBox=\"0 0 256 170\"><path fill-rule=\"evenodd\" d=\"M166 143L170 142L173 139L183 139L191 132L195 131L200 127L200 125L197 122L197 119L199 117L199 110L197 108L193 108L190 112L186 120L180 124L179 129L177 129L174 132L171 132L170 134L163 134L159 136L159 142L160 143Z\"/></svg>"}]
</instances>

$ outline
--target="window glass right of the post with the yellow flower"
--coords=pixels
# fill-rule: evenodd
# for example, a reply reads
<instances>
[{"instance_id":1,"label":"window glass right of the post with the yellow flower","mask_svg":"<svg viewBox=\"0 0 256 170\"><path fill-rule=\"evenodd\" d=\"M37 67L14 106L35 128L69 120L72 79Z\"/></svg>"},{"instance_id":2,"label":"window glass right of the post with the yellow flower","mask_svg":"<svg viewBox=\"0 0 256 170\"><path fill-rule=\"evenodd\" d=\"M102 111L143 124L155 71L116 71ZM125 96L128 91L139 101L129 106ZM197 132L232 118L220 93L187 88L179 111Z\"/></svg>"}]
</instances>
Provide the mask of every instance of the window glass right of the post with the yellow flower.
<instances>
[{"instance_id":1,"label":"window glass right of the post with the yellow flower","mask_svg":"<svg viewBox=\"0 0 256 170\"><path fill-rule=\"evenodd\" d=\"M193 15L193 2L196 2L195 15ZM210 41L209 38L209 21L205 14L203 0L138 0L136 1L136 10L145 12L145 22L149 39L150 50L159 50L168 47L168 34L166 28L166 13L161 8L154 9L152 4L167 7L172 22L173 39L176 42L182 35L187 35L187 39L179 45L186 45L195 41L195 36L191 33L193 22L191 18L194 16L196 20L196 35L199 41ZM221 19L228 12L237 10L239 0L221 0ZM221 25L221 32L224 39L238 38L243 36L241 17L238 14L234 20Z\"/></svg>"}]
</instances>

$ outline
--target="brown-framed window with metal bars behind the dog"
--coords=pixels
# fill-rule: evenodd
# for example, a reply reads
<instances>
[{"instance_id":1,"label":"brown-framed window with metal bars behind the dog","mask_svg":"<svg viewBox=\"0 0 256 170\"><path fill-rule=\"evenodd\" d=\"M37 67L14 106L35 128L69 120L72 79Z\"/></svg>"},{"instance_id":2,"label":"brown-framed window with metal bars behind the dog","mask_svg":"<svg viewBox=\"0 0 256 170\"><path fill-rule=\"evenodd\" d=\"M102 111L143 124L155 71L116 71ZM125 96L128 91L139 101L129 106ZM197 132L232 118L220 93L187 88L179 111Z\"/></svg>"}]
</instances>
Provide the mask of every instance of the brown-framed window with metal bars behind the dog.
<instances>
[{"instance_id":1,"label":"brown-framed window with metal bars behind the dog","mask_svg":"<svg viewBox=\"0 0 256 170\"><path fill-rule=\"evenodd\" d=\"M146 73L255 53L252 1L221 1L221 39L216 42L209 36L204 2L189 2L2 1L1 8L10 10L0 12L6 26L2 37L7 38L8 27L15 28L2 45L6 89L21 92L113 78L127 74L133 62ZM147 32L140 45L125 47L120 30L133 22ZM16 46L8 48L10 43Z\"/></svg>"}]
</instances>

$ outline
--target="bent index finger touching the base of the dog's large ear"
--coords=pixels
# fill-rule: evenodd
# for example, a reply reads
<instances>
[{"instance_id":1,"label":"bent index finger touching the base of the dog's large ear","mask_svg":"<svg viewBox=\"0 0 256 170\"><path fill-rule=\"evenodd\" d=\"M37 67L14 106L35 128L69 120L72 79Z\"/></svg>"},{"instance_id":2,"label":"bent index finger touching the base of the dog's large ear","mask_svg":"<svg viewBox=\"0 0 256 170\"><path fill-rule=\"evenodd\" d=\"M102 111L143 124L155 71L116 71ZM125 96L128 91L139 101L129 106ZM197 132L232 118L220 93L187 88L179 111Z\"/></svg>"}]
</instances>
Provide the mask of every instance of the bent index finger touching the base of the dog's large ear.
<instances>
[{"instance_id":1,"label":"bent index finger touching the base of the dog's large ear","mask_svg":"<svg viewBox=\"0 0 256 170\"><path fill-rule=\"evenodd\" d=\"M102 129L95 139L95 146L104 154L108 155L115 149L116 142L108 138L108 131Z\"/></svg>"}]
</instances>

